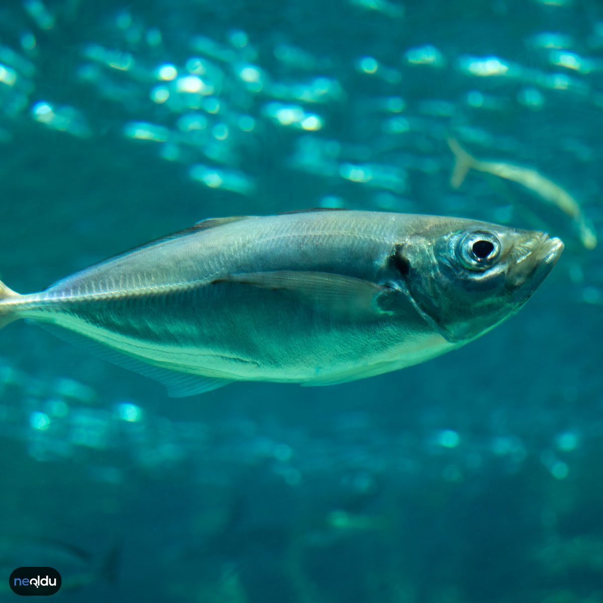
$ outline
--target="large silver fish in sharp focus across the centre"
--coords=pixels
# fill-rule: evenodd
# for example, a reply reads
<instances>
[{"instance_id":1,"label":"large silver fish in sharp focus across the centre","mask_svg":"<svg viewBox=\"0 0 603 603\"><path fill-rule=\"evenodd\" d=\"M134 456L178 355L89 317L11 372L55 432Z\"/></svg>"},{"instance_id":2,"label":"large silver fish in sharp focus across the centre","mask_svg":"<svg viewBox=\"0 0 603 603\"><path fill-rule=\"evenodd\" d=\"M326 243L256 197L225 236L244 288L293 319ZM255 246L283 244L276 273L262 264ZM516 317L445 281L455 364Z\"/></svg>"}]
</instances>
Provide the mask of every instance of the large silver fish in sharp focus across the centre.
<instances>
[{"instance_id":1,"label":"large silver fish in sharp focus across the centre","mask_svg":"<svg viewBox=\"0 0 603 603\"><path fill-rule=\"evenodd\" d=\"M563 242L431 215L315 209L210 218L47 289L19 318L173 397L233 381L332 385L435 358L515 314Z\"/></svg>"}]
</instances>

